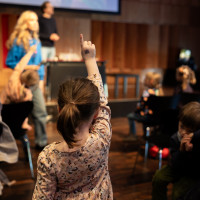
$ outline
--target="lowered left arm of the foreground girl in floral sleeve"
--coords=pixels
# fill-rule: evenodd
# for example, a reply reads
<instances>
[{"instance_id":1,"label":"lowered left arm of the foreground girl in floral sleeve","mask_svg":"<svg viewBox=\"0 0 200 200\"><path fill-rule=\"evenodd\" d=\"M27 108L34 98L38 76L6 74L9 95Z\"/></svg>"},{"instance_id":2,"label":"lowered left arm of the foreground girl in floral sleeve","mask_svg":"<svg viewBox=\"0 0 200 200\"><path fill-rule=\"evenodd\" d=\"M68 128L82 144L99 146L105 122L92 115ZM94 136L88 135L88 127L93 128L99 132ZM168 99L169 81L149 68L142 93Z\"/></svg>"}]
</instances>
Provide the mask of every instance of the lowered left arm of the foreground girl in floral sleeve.
<instances>
[{"instance_id":1,"label":"lowered left arm of the foreground girl in floral sleeve","mask_svg":"<svg viewBox=\"0 0 200 200\"><path fill-rule=\"evenodd\" d=\"M56 174L49 152L45 149L37 161L37 181L32 200L53 200L57 189Z\"/></svg>"}]
</instances>

